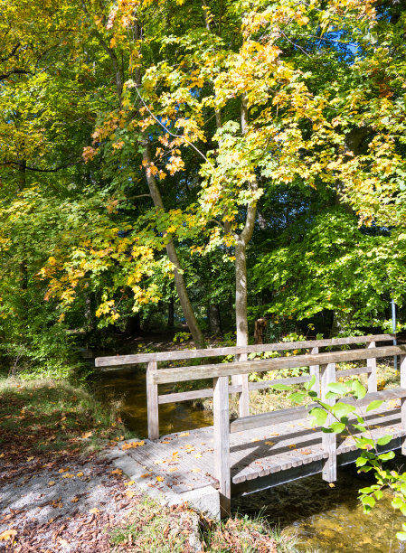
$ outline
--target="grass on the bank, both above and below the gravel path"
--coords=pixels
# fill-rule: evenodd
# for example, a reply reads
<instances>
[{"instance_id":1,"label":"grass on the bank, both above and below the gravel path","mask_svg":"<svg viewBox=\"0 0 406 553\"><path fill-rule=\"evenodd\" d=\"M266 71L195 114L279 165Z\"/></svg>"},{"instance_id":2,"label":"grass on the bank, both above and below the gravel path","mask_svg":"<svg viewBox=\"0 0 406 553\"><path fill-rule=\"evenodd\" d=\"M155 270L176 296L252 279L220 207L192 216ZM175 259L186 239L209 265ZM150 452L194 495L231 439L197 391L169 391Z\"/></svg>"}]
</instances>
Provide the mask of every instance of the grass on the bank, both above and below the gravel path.
<instances>
[{"instance_id":1,"label":"grass on the bank, both above and below the gravel path","mask_svg":"<svg viewBox=\"0 0 406 553\"><path fill-rule=\"evenodd\" d=\"M46 467L73 463L78 456L94 457L129 436L118 409L103 407L87 389L66 380L0 379L0 470L8 479L29 478ZM186 506L164 508L125 475L117 478L132 511L119 528L104 529L111 535L112 551L184 553L196 550L191 545L196 537L203 551L297 551L294 539L264 521L237 516L218 523Z\"/></svg>"}]
</instances>

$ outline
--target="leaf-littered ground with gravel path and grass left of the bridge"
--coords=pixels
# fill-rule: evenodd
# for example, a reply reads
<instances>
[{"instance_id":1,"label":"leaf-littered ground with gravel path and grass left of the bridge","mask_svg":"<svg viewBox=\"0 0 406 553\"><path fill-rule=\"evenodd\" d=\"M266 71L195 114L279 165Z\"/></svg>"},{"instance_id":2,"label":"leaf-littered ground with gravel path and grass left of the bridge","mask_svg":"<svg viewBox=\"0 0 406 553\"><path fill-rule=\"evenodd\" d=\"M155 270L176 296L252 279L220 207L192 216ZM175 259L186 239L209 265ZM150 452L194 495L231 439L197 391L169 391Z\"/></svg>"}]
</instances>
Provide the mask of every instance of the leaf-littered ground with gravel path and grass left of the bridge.
<instances>
[{"instance_id":1,"label":"leaf-littered ground with gravel path and grass left of the bridge","mask_svg":"<svg viewBox=\"0 0 406 553\"><path fill-rule=\"evenodd\" d=\"M64 380L0 380L0 551L296 551L260 520L147 499L103 457L121 420Z\"/></svg>"}]
</instances>

